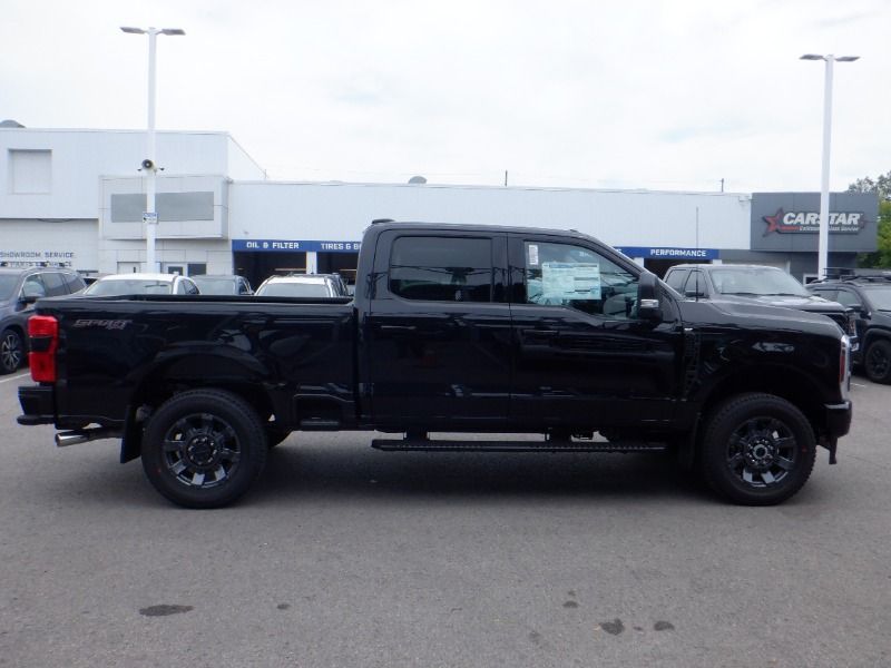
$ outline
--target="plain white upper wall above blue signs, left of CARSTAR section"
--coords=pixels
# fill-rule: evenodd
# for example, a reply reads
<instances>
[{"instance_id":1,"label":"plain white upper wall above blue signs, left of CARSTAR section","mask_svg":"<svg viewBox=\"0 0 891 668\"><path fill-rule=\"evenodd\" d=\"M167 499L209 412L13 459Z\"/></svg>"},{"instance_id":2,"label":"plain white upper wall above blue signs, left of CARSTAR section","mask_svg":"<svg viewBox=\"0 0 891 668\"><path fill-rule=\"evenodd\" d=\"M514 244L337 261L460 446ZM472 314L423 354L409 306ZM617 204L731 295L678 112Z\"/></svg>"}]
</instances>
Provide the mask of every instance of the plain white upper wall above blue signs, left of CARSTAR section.
<instances>
[{"instance_id":1,"label":"plain white upper wall above blue signs, left of CARSTAR section","mask_svg":"<svg viewBox=\"0 0 891 668\"><path fill-rule=\"evenodd\" d=\"M359 240L374 218L572 228L613 245L748 247L738 194L482 186L233 183L236 238Z\"/></svg>"}]
</instances>

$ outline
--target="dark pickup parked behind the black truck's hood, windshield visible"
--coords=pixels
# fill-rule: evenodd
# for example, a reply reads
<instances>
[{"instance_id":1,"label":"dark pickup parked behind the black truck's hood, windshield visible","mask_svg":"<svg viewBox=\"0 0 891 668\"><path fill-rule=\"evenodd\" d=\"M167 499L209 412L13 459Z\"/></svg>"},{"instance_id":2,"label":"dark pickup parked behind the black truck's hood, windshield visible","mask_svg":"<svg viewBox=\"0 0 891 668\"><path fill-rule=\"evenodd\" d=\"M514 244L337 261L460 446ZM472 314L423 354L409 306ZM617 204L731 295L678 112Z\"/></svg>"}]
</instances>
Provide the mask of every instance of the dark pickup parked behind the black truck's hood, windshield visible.
<instances>
[{"instance_id":1,"label":"dark pickup parked behind the black truck's hood, windshield visible","mask_svg":"<svg viewBox=\"0 0 891 668\"><path fill-rule=\"evenodd\" d=\"M823 295L812 295L783 269L765 265L681 264L666 272L665 282L682 295L697 299L721 299L820 313L839 323L851 340L851 350L859 348L853 310L826 299Z\"/></svg>"}]
</instances>

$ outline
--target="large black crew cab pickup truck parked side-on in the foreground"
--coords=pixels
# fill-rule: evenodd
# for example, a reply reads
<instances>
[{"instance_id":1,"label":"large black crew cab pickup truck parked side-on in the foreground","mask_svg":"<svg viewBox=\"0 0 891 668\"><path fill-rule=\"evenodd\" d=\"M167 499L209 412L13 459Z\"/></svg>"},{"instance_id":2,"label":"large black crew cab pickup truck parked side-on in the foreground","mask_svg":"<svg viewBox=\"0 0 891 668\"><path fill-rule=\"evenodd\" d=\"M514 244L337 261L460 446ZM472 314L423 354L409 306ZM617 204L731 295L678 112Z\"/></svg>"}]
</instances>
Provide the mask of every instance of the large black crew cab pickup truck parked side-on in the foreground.
<instances>
[{"instance_id":1,"label":"large black crew cab pickup truck parked side-on in the foreground","mask_svg":"<svg viewBox=\"0 0 891 668\"><path fill-rule=\"evenodd\" d=\"M353 298L57 297L36 314L19 423L55 424L59 445L120 438L123 462L141 455L193 508L241 497L291 432L333 430L391 434L381 450L673 450L764 505L802 488L817 444L834 463L851 422L835 323L686 299L575 232L384 222Z\"/></svg>"}]
</instances>

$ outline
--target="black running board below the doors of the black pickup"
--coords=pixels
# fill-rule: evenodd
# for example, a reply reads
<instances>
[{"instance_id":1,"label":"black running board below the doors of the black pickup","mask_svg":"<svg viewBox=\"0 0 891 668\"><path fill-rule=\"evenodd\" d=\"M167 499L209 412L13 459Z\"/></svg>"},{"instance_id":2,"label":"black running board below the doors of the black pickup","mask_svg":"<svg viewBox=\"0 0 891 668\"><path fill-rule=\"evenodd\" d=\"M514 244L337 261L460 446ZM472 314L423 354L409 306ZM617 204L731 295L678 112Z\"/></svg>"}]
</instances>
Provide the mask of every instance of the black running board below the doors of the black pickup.
<instances>
[{"instance_id":1,"label":"black running board below the doors of the black pickup","mask_svg":"<svg viewBox=\"0 0 891 668\"><path fill-rule=\"evenodd\" d=\"M374 439L371 446L385 452L662 452L665 443L608 443L606 441L438 441Z\"/></svg>"}]
</instances>

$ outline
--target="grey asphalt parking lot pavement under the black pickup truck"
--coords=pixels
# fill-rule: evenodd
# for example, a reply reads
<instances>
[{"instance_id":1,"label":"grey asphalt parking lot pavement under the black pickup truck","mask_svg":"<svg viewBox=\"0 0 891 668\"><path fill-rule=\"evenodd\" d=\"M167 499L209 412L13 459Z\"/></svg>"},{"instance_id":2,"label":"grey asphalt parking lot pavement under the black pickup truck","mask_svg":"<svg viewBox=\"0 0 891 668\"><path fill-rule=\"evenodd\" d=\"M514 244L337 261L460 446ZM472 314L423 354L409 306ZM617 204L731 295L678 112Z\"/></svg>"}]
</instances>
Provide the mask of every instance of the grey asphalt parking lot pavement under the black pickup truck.
<instances>
[{"instance_id":1,"label":"grey asphalt parking lot pavement under the black pickup truck","mask_svg":"<svg viewBox=\"0 0 891 668\"><path fill-rule=\"evenodd\" d=\"M0 376L0 666L891 665L891 387L775 508L664 458L383 453L292 434L170 505L116 441L21 428Z\"/></svg>"}]
</instances>

